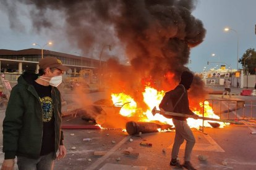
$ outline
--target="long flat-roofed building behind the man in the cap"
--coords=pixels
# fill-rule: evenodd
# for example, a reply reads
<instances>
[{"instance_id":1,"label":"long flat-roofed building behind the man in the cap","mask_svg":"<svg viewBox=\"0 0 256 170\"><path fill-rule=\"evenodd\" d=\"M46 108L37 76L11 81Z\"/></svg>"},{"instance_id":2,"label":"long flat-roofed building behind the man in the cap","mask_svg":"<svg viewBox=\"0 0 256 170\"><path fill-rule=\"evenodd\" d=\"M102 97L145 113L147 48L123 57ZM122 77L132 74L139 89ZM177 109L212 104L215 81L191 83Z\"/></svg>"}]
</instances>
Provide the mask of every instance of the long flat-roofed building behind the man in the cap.
<instances>
[{"instance_id":1,"label":"long flat-roofed building behind the man in the cap","mask_svg":"<svg viewBox=\"0 0 256 170\"><path fill-rule=\"evenodd\" d=\"M34 70L37 73L39 69L38 61L42 57L57 57L63 65L70 68L66 74L78 73L82 69L91 69L95 73L100 66L99 60L62 52L42 51L42 49L23 49L19 51L0 49L1 73L4 73L9 81L16 81L23 71Z\"/></svg>"}]
</instances>

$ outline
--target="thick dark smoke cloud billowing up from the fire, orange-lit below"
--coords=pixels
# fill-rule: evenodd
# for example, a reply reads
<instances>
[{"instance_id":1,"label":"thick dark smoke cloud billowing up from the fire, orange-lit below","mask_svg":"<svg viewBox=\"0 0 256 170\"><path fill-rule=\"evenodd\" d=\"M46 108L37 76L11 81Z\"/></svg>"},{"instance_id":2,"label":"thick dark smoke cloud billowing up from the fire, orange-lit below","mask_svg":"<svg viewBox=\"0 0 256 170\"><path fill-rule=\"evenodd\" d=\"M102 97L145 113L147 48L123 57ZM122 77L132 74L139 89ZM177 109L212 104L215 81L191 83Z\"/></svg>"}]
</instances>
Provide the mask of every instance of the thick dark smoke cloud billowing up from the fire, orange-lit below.
<instances>
[{"instance_id":1,"label":"thick dark smoke cloud billowing up from the fire, orange-lit below","mask_svg":"<svg viewBox=\"0 0 256 170\"><path fill-rule=\"evenodd\" d=\"M156 87L165 90L173 87L179 82L182 71L189 70L186 64L190 48L200 44L206 33L203 23L191 14L197 3L193 0L19 2L30 7L31 20L37 31L64 31L72 46L78 47L87 56L95 47L101 51L108 44L117 51L123 49L125 54L122 55L130 60L132 70L119 70L118 63L110 62L112 68L116 68L116 76L111 77L112 84L109 84L113 87L122 82L124 87L116 87L122 91L134 91L134 86L149 76L154 82L163 82ZM9 12L11 23L17 20L17 7L10 6L11 1L7 0L1 1L1 4L12 9ZM51 12L58 12L64 20L62 30L54 27L56 20L49 15ZM117 73L125 73L125 79ZM169 73L172 76L168 76ZM140 90L139 87L137 89ZM198 78L195 78L192 89L192 92L205 94L203 83Z\"/></svg>"}]
</instances>

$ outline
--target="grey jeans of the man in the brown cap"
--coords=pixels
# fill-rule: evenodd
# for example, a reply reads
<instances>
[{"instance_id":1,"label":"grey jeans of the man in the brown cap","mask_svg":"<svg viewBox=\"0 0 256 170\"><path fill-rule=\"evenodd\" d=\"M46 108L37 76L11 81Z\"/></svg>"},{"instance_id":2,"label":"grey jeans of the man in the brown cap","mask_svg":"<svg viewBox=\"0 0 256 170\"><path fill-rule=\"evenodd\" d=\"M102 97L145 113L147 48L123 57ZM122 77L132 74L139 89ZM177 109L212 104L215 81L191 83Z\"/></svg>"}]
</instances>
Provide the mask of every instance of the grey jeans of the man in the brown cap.
<instances>
[{"instance_id":1,"label":"grey jeans of the man in the brown cap","mask_svg":"<svg viewBox=\"0 0 256 170\"><path fill-rule=\"evenodd\" d=\"M19 170L50 170L53 166L54 153L40 156L38 159L17 156Z\"/></svg>"}]
</instances>

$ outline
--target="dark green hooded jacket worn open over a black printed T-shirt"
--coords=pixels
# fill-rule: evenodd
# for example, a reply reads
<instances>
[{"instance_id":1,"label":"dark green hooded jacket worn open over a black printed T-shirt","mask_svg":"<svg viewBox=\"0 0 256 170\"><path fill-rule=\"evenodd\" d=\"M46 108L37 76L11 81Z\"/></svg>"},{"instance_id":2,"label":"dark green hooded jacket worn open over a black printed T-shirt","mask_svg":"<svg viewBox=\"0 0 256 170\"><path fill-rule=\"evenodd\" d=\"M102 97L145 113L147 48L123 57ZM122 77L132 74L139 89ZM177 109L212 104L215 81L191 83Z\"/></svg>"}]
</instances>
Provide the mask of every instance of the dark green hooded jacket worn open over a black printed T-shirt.
<instances>
[{"instance_id":1,"label":"dark green hooded jacket worn open over a black printed T-shirt","mask_svg":"<svg viewBox=\"0 0 256 170\"><path fill-rule=\"evenodd\" d=\"M2 127L4 159L14 159L17 156L39 158L43 137L43 110L32 81L38 75L24 73L18 79L18 84L12 88L6 108L6 117ZM51 97L55 127L55 157L62 142L61 132L61 95L56 87L52 87Z\"/></svg>"}]
</instances>

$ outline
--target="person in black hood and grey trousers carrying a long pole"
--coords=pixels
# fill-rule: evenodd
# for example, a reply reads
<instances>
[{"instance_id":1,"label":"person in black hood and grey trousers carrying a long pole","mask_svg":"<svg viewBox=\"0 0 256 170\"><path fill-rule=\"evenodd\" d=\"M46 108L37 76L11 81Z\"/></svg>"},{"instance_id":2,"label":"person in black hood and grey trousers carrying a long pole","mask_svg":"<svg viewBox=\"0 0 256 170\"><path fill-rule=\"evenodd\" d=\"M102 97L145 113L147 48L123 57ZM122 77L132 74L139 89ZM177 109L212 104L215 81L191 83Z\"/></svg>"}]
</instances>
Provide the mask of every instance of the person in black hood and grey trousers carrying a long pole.
<instances>
[{"instance_id":1,"label":"person in black hood and grey trousers carrying a long pole","mask_svg":"<svg viewBox=\"0 0 256 170\"><path fill-rule=\"evenodd\" d=\"M193 118L197 119L198 116L189 109L189 99L187 96L187 90L190 88L193 79L194 75L189 71L182 72L181 82L179 83L179 85L172 91L166 92L165 95L169 95L168 98L169 100L171 100L169 102L172 102L175 106L173 112L193 115ZM161 103L159 106L160 110L162 110ZM187 118L181 116L173 116L173 123L176 129L176 133L173 150L171 152L170 165L176 166L178 168L184 167L186 169L195 169L190 163L190 155L192 152L192 148L195 144L195 137L189 125L187 124ZM184 140L186 140L187 143L185 149L184 164L181 165L181 163L179 163L179 160L177 160L177 156L179 153L179 148L181 147L181 144L184 142Z\"/></svg>"}]
</instances>

